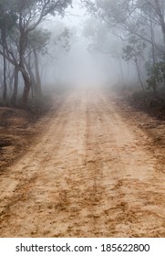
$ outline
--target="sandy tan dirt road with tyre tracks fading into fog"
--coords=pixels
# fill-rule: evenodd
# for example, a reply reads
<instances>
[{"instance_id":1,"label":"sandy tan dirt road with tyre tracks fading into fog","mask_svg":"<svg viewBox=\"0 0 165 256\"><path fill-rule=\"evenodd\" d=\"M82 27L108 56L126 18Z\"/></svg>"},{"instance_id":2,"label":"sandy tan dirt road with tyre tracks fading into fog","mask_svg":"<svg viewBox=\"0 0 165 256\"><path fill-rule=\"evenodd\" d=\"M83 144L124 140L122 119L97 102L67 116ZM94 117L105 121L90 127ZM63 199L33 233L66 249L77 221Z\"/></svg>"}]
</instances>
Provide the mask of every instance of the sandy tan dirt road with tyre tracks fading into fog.
<instances>
[{"instance_id":1,"label":"sandy tan dirt road with tyre tracks fading into fog","mask_svg":"<svg viewBox=\"0 0 165 256\"><path fill-rule=\"evenodd\" d=\"M71 93L38 125L0 176L1 237L165 237L165 175L104 93Z\"/></svg>"}]
</instances>

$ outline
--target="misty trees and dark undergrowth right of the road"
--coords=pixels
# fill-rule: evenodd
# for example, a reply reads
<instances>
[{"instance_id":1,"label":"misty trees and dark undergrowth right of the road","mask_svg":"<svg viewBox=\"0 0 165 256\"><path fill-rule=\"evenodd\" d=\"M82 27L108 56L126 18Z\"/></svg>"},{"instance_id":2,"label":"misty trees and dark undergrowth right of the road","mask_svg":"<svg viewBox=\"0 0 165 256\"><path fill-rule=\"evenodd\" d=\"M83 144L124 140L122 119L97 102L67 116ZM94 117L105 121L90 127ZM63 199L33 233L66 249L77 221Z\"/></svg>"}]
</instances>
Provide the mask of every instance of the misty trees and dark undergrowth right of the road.
<instances>
[{"instance_id":1,"label":"misty trees and dark undergrowth right of the road","mask_svg":"<svg viewBox=\"0 0 165 256\"><path fill-rule=\"evenodd\" d=\"M132 103L150 112L155 112L154 108L158 114L165 112L164 1L87 0L82 3L92 14L84 30L90 38L89 50L105 54L113 59L113 65L119 65L116 90L120 84L121 91L124 89L128 94L136 91ZM136 77L132 77L134 71Z\"/></svg>"}]
</instances>

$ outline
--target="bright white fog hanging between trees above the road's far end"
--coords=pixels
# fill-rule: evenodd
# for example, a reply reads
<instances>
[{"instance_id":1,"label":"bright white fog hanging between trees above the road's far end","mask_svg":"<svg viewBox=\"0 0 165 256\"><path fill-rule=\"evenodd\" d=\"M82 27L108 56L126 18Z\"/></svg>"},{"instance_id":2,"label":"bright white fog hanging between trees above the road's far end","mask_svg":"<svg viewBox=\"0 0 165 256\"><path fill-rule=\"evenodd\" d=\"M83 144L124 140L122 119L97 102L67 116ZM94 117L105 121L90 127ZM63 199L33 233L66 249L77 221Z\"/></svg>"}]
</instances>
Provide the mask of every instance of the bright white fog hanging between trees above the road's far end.
<instances>
[{"instance_id":1,"label":"bright white fog hanging between trees above the road's far end","mask_svg":"<svg viewBox=\"0 0 165 256\"><path fill-rule=\"evenodd\" d=\"M119 37L104 35L99 41L99 47L103 49L90 49L91 37L88 30L92 30L91 23L97 21L91 18L87 10L82 5L77 5L74 1L73 7L69 7L63 19L52 19L46 23L46 28L51 31L52 38L56 39L63 29L67 28L71 35L68 39L69 50L63 48L62 43L52 46L48 45L47 56L41 57L41 62L46 65L46 77L44 84L46 87L56 87L65 85L71 88L114 86L116 84L126 84L128 80L137 80L134 68L127 65L121 57L121 41ZM93 28L94 29L94 28ZM100 28L100 32L105 33L105 29ZM58 31L58 33L57 33ZM92 31L90 31L92 33ZM106 40L108 39L108 42ZM108 45L105 47L105 45ZM104 48L107 48L107 52ZM109 52L108 52L109 51ZM131 78L130 78L131 73ZM43 84L43 85L44 85Z\"/></svg>"}]
</instances>

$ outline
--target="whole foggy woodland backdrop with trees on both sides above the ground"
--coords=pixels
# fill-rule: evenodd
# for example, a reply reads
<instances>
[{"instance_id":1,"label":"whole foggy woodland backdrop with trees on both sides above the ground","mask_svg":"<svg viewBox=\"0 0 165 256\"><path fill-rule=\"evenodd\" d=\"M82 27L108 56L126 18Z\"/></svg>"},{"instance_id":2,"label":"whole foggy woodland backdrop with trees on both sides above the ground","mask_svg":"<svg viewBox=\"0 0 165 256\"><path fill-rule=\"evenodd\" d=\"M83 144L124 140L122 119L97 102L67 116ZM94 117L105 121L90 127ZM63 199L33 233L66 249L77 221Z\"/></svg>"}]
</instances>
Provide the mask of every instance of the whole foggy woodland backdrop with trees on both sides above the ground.
<instances>
[{"instance_id":1,"label":"whole foggy woodland backdrop with trees on both sides above the ground","mask_svg":"<svg viewBox=\"0 0 165 256\"><path fill-rule=\"evenodd\" d=\"M20 1L3 4L3 101L95 86L156 93L165 83L163 1Z\"/></svg>"}]
</instances>

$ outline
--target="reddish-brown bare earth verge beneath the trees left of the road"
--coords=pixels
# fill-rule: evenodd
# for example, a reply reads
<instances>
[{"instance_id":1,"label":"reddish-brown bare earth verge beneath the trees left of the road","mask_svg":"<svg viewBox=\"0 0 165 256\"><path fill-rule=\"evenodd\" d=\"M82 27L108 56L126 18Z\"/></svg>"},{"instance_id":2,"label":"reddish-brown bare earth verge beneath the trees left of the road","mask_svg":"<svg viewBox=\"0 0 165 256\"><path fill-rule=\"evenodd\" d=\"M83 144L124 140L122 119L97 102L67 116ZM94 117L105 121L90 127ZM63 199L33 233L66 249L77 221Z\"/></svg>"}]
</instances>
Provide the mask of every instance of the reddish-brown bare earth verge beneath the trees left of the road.
<instances>
[{"instance_id":1,"label":"reddish-brown bare earth verge beneath the trees left of the road","mask_svg":"<svg viewBox=\"0 0 165 256\"><path fill-rule=\"evenodd\" d=\"M44 131L42 119L56 112L62 97L47 97L42 106L30 110L0 107L0 175L6 167L23 156ZM49 112L49 116L48 116ZM38 124L39 123L39 124Z\"/></svg>"}]
</instances>

